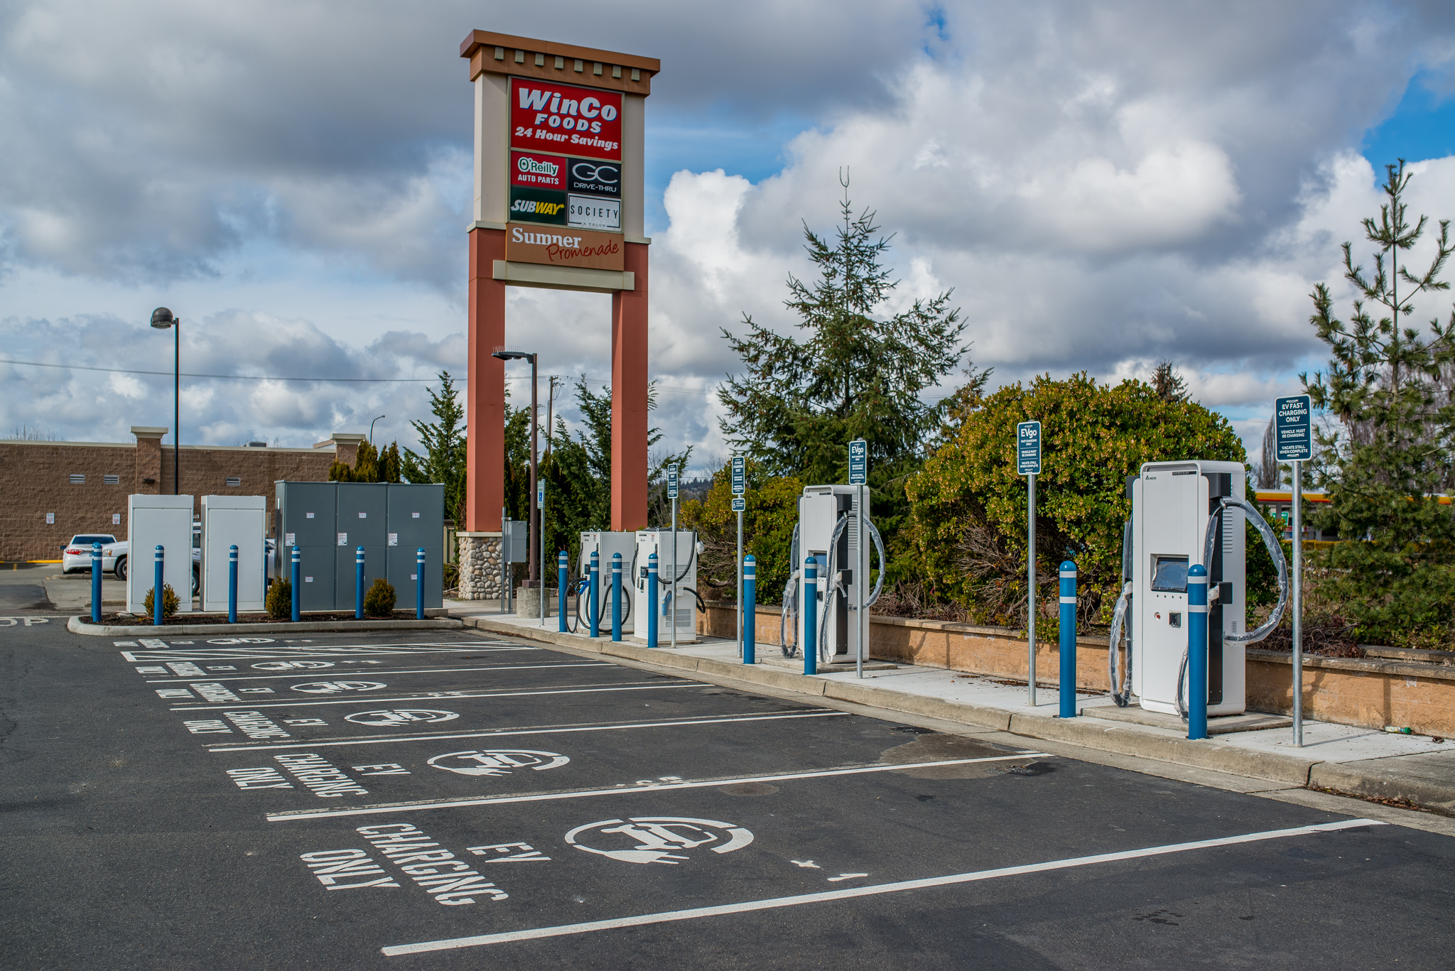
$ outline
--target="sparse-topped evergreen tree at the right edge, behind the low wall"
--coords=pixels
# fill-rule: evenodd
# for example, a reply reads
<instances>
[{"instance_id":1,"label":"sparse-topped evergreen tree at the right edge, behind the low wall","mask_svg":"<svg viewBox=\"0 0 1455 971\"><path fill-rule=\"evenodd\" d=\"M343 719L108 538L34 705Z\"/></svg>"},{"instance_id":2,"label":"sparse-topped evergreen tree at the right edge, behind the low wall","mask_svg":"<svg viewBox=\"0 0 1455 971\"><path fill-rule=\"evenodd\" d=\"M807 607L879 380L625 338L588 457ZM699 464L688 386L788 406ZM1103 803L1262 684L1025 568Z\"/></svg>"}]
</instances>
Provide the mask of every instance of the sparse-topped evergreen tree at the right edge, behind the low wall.
<instances>
[{"instance_id":1,"label":"sparse-topped evergreen tree at the right edge, behind the low wall","mask_svg":"<svg viewBox=\"0 0 1455 971\"><path fill-rule=\"evenodd\" d=\"M1374 272L1353 261L1344 243L1344 280L1355 293L1349 322L1333 313L1326 284L1314 287L1310 323L1328 345L1328 370L1304 389L1314 408L1340 428L1320 429L1314 475L1328 494L1318 515L1326 531L1344 537L1328 550L1327 591L1344 604L1360 638L1394 641L1443 627L1455 614L1455 520L1435 494L1448 486L1455 456L1455 405L1448 379L1455 367L1455 313L1429 332L1406 325L1419 294L1449 288L1439 280L1455 246L1449 220L1439 223L1435 255L1420 275L1400 263L1429 223L1410 224L1404 160L1385 167L1379 218L1362 220L1374 245ZM1403 284L1403 293L1401 293ZM1375 319L1378 313L1378 319ZM1362 540L1362 542L1360 542Z\"/></svg>"}]
</instances>

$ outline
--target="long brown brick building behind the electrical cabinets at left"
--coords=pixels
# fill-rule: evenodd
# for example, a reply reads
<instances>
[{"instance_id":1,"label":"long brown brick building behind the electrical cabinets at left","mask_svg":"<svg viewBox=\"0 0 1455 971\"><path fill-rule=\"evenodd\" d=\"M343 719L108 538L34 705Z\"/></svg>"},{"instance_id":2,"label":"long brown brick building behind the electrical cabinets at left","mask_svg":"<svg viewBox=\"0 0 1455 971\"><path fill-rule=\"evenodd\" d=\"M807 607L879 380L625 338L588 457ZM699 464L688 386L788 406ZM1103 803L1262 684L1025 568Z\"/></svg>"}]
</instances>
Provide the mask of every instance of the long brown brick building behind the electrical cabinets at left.
<instances>
[{"instance_id":1,"label":"long brown brick building behind the electrical cabinets at left","mask_svg":"<svg viewBox=\"0 0 1455 971\"><path fill-rule=\"evenodd\" d=\"M125 539L128 495L173 492L167 431L134 427L134 444L0 440L0 560L60 559L76 533ZM323 482L335 460L354 463L361 441L335 432L313 448L182 445L178 492L268 496L272 523L274 482Z\"/></svg>"}]
</instances>

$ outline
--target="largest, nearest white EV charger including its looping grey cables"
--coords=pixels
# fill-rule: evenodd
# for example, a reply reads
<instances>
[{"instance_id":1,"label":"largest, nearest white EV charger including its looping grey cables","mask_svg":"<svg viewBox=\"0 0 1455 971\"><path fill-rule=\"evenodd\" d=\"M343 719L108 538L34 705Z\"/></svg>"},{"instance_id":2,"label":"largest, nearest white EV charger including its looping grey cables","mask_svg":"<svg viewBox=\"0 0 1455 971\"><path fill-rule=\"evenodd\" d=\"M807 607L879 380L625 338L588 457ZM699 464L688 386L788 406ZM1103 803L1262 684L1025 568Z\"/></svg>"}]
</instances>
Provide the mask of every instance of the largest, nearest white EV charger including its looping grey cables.
<instances>
[{"instance_id":1,"label":"largest, nearest white EV charger including its looping grey cables","mask_svg":"<svg viewBox=\"0 0 1455 971\"><path fill-rule=\"evenodd\" d=\"M1245 709L1244 646L1266 638L1288 603L1283 550L1244 499L1245 482L1237 461L1148 461L1128 482L1132 518L1122 537L1123 587L1107 659L1117 705L1135 693L1149 712L1186 718L1187 571L1200 563L1208 571L1208 715ZM1279 572L1277 607L1254 630L1247 629L1244 517Z\"/></svg>"}]
</instances>

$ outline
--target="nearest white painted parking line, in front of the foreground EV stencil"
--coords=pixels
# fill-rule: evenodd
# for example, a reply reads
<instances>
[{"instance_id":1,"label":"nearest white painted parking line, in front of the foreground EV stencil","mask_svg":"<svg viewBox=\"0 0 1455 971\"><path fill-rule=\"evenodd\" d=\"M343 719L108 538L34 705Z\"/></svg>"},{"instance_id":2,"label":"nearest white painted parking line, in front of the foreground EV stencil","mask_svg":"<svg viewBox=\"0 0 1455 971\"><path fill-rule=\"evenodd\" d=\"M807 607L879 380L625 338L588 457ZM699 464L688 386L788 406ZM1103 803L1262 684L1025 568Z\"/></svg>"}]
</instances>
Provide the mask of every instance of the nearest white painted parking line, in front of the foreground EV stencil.
<instances>
[{"instance_id":1,"label":"nearest white painted parking line, in front of the foreground EV stencil","mask_svg":"<svg viewBox=\"0 0 1455 971\"><path fill-rule=\"evenodd\" d=\"M799 904L821 904L832 900L853 900L854 897L874 897L879 894L895 894L905 889L924 889L928 887L970 884L982 879L995 879L998 876L1045 873L1048 871L1069 869L1072 866L1090 866L1093 863L1112 863L1116 860L1135 860L1147 856L1165 856L1168 853L1186 853L1189 850L1206 850L1218 846L1237 846L1240 843L1260 843L1263 840L1279 840L1289 836L1308 836L1312 833L1331 833L1334 830L1349 830L1363 825L1385 825L1385 824L1376 823L1375 820L1344 820L1342 823L1321 823L1317 825L1301 825L1291 830L1267 830L1264 833L1247 833L1244 836L1225 836L1216 840L1197 840L1196 843L1173 843L1170 846L1149 846L1147 849L1123 850L1120 853L1099 853L1096 856L1077 856L1067 860L1052 860L1049 863L1002 866L1000 869L976 871L973 873L952 873L949 876L906 879L895 884L874 884L870 887L845 887L844 889L829 889L819 894L799 894L796 897L749 900L741 904L722 904L719 907L694 907L691 910L669 910L656 914L614 917L611 920L591 920L581 924L559 924L556 927L531 927L530 930L509 930L505 933L495 933L495 935L477 935L474 938L448 938L445 940L425 940L420 943L406 943L406 945L380 948L380 951L383 951L384 955L388 958L397 958L406 954L425 954L428 951L455 951L460 948L479 948L492 943L509 943L515 940L538 940L541 938L562 938L566 935L592 933L597 930L642 927L645 924L665 924L674 920L697 920L698 917L746 914L755 910L776 910L780 907L796 907Z\"/></svg>"}]
</instances>

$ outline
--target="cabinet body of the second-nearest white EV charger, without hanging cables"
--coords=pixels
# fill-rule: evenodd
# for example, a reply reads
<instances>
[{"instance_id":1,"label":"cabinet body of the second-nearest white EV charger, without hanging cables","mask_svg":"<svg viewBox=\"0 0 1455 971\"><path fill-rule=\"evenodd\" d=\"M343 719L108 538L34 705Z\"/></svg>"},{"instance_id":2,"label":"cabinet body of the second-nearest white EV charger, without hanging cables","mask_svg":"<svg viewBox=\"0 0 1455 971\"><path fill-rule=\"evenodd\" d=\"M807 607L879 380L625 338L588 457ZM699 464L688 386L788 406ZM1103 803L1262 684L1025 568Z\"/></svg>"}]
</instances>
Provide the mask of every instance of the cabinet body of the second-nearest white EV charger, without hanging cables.
<instances>
[{"instance_id":1,"label":"cabinet body of the second-nearest white EV charger, without hanging cables","mask_svg":"<svg viewBox=\"0 0 1455 971\"><path fill-rule=\"evenodd\" d=\"M864 533L869 533L869 486L805 486L799 496L797 568L813 558L815 588L799 581L799 643L806 625L818 625L815 643L825 664L845 664L858 657L858 625L854 623L860 584L869 579L869 539L858 534L860 491L864 496ZM837 537L835 537L837 533ZM863 591L869 598L869 590ZM809 609L813 604L815 609ZM864 652L867 659L869 652Z\"/></svg>"}]
</instances>

